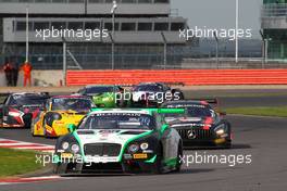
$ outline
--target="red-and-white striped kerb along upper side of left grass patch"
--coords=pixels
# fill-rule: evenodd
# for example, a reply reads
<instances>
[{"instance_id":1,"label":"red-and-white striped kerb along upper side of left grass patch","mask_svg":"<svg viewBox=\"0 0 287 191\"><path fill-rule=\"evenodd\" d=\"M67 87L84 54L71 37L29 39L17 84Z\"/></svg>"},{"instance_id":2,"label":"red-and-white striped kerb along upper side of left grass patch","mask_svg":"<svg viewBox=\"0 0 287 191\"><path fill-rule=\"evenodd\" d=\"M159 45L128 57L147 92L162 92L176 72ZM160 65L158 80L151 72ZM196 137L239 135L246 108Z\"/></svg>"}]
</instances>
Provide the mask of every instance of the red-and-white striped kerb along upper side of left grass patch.
<instances>
[{"instance_id":1,"label":"red-and-white striped kerb along upper side of left grass patch","mask_svg":"<svg viewBox=\"0 0 287 191\"><path fill-rule=\"evenodd\" d=\"M40 144L34 142L24 142L11 139L0 139L0 148L18 149L18 150L34 150L46 153L53 153L54 147L49 144Z\"/></svg>"}]
</instances>

